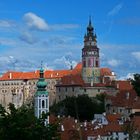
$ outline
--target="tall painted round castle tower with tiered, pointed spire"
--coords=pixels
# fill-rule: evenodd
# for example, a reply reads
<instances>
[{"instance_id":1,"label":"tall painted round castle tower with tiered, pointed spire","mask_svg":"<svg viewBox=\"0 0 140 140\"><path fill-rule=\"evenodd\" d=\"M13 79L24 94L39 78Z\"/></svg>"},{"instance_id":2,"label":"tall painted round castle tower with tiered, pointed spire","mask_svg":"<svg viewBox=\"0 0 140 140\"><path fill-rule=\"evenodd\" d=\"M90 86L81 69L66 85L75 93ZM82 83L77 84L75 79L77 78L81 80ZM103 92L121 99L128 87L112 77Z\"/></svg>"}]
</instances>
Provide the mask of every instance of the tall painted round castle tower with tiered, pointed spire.
<instances>
[{"instance_id":1,"label":"tall painted round castle tower with tiered, pointed spire","mask_svg":"<svg viewBox=\"0 0 140 140\"><path fill-rule=\"evenodd\" d=\"M82 49L82 77L85 83L100 83L100 59L97 47L97 36L89 20L87 33L84 36L84 48Z\"/></svg>"}]
</instances>

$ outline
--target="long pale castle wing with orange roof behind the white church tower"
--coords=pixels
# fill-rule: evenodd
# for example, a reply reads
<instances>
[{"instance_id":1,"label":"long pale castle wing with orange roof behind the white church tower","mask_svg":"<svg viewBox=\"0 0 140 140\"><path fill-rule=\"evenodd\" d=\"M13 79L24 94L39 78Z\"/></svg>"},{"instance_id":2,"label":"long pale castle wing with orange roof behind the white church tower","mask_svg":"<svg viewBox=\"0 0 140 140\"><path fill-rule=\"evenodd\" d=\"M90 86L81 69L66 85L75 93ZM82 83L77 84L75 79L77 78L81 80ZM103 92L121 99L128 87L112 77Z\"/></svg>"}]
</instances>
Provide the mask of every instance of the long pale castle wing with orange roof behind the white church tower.
<instances>
[{"instance_id":1,"label":"long pale castle wing with orange roof behind the white church tower","mask_svg":"<svg viewBox=\"0 0 140 140\"><path fill-rule=\"evenodd\" d=\"M13 103L16 107L22 104L28 104L33 101L34 94L37 90L36 84L40 72L17 72L8 71L0 77L0 104L8 107ZM55 85L65 75L69 75L71 70L44 70L44 78L49 93L49 103L52 105L56 100Z\"/></svg>"}]
</instances>

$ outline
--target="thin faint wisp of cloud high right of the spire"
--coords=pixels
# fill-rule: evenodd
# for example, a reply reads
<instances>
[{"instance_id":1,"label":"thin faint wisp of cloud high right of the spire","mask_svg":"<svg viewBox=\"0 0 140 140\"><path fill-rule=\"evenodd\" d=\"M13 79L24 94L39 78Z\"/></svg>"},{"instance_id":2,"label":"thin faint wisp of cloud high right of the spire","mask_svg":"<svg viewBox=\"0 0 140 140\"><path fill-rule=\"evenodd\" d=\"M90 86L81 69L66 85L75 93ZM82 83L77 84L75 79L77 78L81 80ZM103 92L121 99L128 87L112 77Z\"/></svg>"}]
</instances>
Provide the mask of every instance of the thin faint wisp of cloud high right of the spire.
<instances>
[{"instance_id":1,"label":"thin faint wisp of cloud high right of the spire","mask_svg":"<svg viewBox=\"0 0 140 140\"><path fill-rule=\"evenodd\" d=\"M111 11L108 12L108 16L114 16L118 14L122 7L122 3L117 4Z\"/></svg>"}]
</instances>

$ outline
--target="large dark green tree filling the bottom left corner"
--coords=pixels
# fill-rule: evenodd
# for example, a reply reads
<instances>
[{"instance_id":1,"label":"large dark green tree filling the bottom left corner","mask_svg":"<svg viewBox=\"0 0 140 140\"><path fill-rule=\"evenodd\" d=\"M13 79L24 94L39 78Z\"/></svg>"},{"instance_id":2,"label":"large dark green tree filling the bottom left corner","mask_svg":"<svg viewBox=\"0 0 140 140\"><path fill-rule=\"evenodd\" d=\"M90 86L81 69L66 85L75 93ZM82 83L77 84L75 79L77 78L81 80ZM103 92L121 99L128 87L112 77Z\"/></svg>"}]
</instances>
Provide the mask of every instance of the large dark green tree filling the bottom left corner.
<instances>
[{"instance_id":1,"label":"large dark green tree filling the bottom left corner","mask_svg":"<svg viewBox=\"0 0 140 140\"><path fill-rule=\"evenodd\" d=\"M0 140L58 140L57 124L45 126L45 117L37 119L27 106L16 109L9 104L7 112L0 105Z\"/></svg>"}]
</instances>

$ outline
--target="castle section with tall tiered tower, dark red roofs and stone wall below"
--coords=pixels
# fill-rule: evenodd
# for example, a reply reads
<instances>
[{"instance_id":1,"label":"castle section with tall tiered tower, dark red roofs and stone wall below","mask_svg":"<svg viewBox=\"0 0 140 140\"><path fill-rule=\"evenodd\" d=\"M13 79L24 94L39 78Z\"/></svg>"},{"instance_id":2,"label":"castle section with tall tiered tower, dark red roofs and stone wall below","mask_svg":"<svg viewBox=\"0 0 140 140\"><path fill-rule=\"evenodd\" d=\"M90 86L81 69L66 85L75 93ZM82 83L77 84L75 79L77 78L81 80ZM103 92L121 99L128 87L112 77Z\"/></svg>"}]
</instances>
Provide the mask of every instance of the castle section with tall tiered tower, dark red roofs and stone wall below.
<instances>
[{"instance_id":1,"label":"castle section with tall tiered tower, dark red roofs and stone wall below","mask_svg":"<svg viewBox=\"0 0 140 140\"><path fill-rule=\"evenodd\" d=\"M81 71L74 73L76 69ZM82 63L79 63L70 75L62 77L61 81L56 85L56 100L59 102L68 96L81 94L87 94L89 97L94 97L101 93L115 95L117 93L115 80L114 72L109 68L100 67L97 36L90 19L84 36Z\"/></svg>"}]
</instances>

